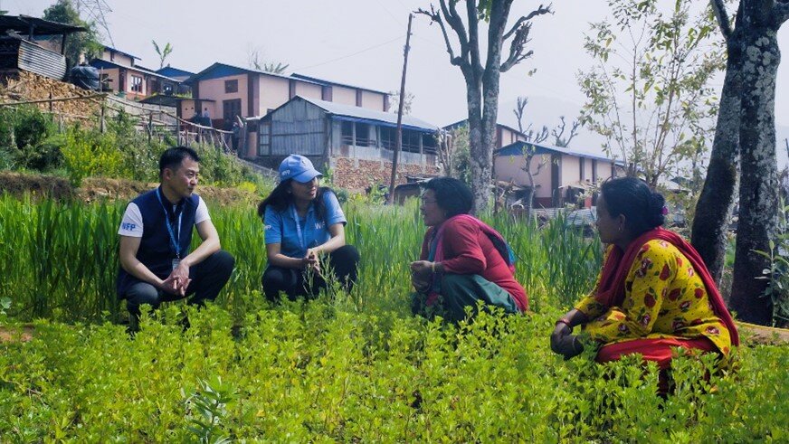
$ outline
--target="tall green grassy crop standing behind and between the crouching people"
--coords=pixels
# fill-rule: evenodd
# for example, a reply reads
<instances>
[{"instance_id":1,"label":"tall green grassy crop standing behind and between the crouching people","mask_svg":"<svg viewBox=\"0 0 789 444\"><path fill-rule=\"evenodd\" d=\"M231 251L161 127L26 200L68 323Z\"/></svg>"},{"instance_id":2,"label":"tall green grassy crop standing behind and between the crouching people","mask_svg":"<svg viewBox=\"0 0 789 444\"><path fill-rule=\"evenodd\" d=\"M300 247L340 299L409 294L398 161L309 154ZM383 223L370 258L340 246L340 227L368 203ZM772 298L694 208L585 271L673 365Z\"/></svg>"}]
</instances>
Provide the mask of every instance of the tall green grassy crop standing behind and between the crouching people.
<instances>
[{"instance_id":1,"label":"tall green grassy crop standing behind and between the crouching people","mask_svg":"<svg viewBox=\"0 0 789 444\"><path fill-rule=\"evenodd\" d=\"M236 259L218 300L241 318L245 297L261 289L266 266L261 220L252 206L212 207L222 247ZM117 320L117 234L125 202L80 203L0 197L0 298L11 298L21 319ZM337 304L355 311L406 313L408 264L419 257L426 228L416 201L403 207L347 203L347 241L361 253L359 279ZM600 243L556 220L545 227L506 214L482 215L518 256L516 278L532 309L566 307L592 288ZM193 236L195 245L199 237Z\"/></svg>"}]
</instances>

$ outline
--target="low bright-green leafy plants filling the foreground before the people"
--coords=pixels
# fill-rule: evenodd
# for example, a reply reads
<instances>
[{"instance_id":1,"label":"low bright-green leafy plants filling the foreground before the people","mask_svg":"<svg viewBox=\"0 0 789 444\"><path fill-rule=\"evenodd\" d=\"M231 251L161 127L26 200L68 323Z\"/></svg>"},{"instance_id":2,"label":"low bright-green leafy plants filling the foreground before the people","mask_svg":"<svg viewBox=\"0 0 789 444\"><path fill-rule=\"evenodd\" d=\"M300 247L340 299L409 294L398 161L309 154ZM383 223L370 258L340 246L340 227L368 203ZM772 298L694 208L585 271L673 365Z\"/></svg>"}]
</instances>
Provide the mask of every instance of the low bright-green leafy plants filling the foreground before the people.
<instances>
[{"instance_id":1,"label":"low bright-green leafy plants filling the foreground before the people","mask_svg":"<svg viewBox=\"0 0 789 444\"><path fill-rule=\"evenodd\" d=\"M480 314L445 326L328 299L260 301L233 337L218 307L170 305L122 326L39 321L0 345L9 442L785 442L789 348L740 350L735 374L678 357L674 394L654 366L565 362L556 313ZM100 365L97 367L97 363Z\"/></svg>"}]
</instances>

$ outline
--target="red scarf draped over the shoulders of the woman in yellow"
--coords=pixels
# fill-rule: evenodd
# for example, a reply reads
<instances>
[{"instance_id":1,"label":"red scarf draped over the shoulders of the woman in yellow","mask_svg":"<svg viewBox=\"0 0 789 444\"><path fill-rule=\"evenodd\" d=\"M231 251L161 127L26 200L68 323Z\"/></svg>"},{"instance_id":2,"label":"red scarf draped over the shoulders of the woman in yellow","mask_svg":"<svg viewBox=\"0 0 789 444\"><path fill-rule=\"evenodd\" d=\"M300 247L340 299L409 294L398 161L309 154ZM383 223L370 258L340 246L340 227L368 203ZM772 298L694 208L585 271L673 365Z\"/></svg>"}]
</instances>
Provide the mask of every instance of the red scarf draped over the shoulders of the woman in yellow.
<instances>
[{"instance_id":1,"label":"red scarf draped over the shoulders of the woman in yellow","mask_svg":"<svg viewBox=\"0 0 789 444\"><path fill-rule=\"evenodd\" d=\"M723 324L727 326L732 345L739 345L737 326L734 325L734 320L728 313L723 298L720 297L720 292L718 291L718 286L715 285L715 280L709 275L707 265L704 264L704 260L701 260L699 251L682 239L679 234L674 231L663 230L661 227L643 233L632 241L625 251L615 245L613 246L611 253L608 255L603 265L603 275L600 277L597 295L594 296L597 302L603 304L605 307L622 307L624 301L624 280L627 278L627 274L632 268L632 262L635 260L643 244L655 240L669 242L671 245L677 247L677 249L690 260L690 265L692 265L693 269L699 274L699 278L704 282L704 287L707 288L709 301L712 304L712 311L715 312L720 320L723 321Z\"/></svg>"}]
</instances>

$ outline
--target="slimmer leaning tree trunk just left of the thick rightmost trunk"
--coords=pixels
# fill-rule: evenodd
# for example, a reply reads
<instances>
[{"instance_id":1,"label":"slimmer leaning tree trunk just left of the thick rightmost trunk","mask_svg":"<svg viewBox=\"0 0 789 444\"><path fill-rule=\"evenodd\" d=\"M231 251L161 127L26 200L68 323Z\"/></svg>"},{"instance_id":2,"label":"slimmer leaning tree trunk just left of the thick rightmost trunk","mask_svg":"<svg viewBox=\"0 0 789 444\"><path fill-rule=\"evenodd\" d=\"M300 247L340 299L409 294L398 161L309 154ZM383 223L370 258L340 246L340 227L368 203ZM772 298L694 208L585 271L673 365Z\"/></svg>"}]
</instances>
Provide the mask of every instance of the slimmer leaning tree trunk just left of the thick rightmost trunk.
<instances>
[{"instance_id":1,"label":"slimmer leaning tree trunk just left of the thick rightmost trunk","mask_svg":"<svg viewBox=\"0 0 789 444\"><path fill-rule=\"evenodd\" d=\"M690 243L719 284L726 259L728 216L734 203L739 156L742 47L739 33L727 43L726 77L704 187L696 203Z\"/></svg>"}]
</instances>

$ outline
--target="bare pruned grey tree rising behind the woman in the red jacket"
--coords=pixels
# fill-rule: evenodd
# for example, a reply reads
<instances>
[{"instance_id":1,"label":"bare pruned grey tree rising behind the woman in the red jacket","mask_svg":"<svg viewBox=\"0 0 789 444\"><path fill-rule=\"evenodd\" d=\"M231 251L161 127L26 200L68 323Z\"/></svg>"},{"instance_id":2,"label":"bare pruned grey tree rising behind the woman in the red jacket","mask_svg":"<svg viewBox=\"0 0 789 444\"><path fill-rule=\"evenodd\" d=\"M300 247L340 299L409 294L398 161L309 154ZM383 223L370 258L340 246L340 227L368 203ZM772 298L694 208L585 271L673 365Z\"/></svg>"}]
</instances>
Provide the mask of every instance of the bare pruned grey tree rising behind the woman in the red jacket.
<instances>
[{"instance_id":1,"label":"bare pruned grey tree rising behind the woman in the red jacket","mask_svg":"<svg viewBox=\"0 0 789 444\"><path fill-rule=\"evenodd\" d=\"M521 16L507 29L510 7L513 0L440 0L439 8L420 8L423 14L438 24L441 29L450 63L457 66L466 81L466 101L469 108L469 142L471 150L471 189L478 211L488 206L493 165L493 146L496 138L496 121L499 108L499 76L513 66L528 59L526 51L531 31L531 20L542 14L551 13L550 5L540 5L531 13ZM458 11L465 5L465 14ZM465 22L464 22L465 18ZM488 23L485 37L487 48L483 60L480 46L480 22ZM459 43L455 51L449 31ZM511 40L510 40L511 39ZM502 59L502 45L509 40L509 54Z\"/></svg>"}]
</instances>

